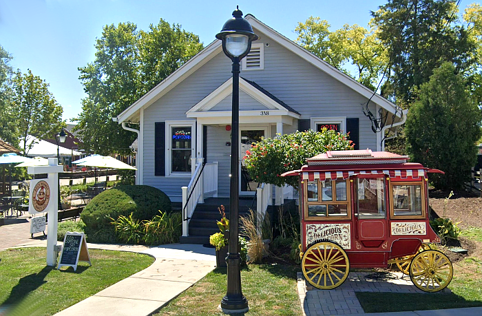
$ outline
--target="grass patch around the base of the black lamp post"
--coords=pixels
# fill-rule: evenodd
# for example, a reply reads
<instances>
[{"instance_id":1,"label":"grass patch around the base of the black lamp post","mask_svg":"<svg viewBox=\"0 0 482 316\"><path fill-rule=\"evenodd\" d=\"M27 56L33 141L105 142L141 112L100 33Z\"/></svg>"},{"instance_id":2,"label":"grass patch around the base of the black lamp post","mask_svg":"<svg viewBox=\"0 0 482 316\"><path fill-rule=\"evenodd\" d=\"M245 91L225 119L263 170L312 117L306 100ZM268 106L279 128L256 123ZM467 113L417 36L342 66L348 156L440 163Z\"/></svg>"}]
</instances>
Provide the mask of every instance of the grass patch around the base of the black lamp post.
<instances>
[{"instance_id":1,"label":"grass patch around the base of the black lamp post","mask_svg":"<svg viewBox=\"0 0 482 316\"><path fill-rule=\"evenodd\" d=\"M247 315L302 315L296 292L298 266L249 264L241 271ZM226 268L216 268L160 310L160 315L224 315L217 308L226 294Z\"/></svg>"}]
</instances>

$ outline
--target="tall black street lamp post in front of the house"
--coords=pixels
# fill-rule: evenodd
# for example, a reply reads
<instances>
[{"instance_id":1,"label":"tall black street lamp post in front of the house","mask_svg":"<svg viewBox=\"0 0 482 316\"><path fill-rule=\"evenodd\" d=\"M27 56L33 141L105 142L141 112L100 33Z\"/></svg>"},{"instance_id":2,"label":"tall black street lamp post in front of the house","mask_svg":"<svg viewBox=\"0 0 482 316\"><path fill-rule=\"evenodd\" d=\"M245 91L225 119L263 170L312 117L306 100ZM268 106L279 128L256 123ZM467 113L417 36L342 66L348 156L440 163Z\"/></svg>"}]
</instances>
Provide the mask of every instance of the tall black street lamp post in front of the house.
<instances>
[{"instance_id":1,"label":"tall black street lamp post in front of the house","mask_svg":"<svg viewBox=\"0 0 482 316\"><path fill-rule=\"evenodd\" d=\"M241 291L239 233L239 82L240 60L251 50L251 42L258 39L242 12L236 8L216 38L222 40L222 50L233 61L233 106L231 112L231 182L229 185L229 253L227 256L227 292L221 300L224 313L243 313L249 310L248 301Z\"/></svg>"}]
</instances>

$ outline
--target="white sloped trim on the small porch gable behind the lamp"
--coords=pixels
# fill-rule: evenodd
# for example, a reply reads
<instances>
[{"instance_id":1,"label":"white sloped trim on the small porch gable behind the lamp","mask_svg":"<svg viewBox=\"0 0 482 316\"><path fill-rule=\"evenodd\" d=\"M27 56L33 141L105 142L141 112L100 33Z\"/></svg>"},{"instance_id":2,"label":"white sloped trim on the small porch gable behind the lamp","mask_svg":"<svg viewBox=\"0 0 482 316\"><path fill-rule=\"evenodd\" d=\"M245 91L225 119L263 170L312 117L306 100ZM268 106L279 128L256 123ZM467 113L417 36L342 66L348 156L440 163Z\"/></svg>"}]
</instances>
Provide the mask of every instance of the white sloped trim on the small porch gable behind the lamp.
<instances>
[{"instance_id":1,"label":"white sloped trim on the small porch gable behind the lamp","mask_svg":"<svg viewBox=\"0 0 482 316\"><path fill-rule=\"evenodd\" d=\"M262 93L259 89L256 89L255 87L253 87L253 85L251 85L246 80L244 80L244 78L240 78L240 89L246 92L249 96L251 96L251 98L254 98L256 101L264 105L266 109L269 109L270 111L275 109L275 110L279 110L280 113L282 112L284 115L289 113L289 109L286 109L286 107L280 105L280 103L277 103L269 96L266 96L266 94ZM232 92L233 92L233 77L225 81L216 90L214 90L208 96L203 98L198 104L191 107L191 109L189 109L186 112L187 117L201 117L201 116L206 116L205 114L208 114L208 115L212 114L213 112L209 112L209 109L212 109L213 107L218 105L218 103L224 100L224 98L229 96ZM300 118L299 114L295 114L292 112L290 112L290 114L293 114L293 117L295 118Z\"/></svg>"}]
</instances>

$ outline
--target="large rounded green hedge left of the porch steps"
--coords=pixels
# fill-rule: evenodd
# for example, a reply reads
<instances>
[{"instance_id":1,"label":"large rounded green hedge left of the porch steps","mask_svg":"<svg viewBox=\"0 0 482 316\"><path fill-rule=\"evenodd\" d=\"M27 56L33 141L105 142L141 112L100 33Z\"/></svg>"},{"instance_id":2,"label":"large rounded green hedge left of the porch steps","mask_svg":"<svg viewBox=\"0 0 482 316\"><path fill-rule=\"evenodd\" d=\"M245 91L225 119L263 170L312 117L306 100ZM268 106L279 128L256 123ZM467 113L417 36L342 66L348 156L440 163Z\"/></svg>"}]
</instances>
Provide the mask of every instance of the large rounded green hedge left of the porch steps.
<instances>
[{"instance_id":1,"label":"large rounded green hedge left of the porch steps","mask_svg":"<svg viewBox=\"0 0 482 316\"><path fill-rule=\"evenodd\" d=\"M112 219L119 215L151 220L158 211L171 212L171 200L163 191L147 185L122 185L103 191L81 213L89 242L117 242Z\"/></svg>"}]
</instances>

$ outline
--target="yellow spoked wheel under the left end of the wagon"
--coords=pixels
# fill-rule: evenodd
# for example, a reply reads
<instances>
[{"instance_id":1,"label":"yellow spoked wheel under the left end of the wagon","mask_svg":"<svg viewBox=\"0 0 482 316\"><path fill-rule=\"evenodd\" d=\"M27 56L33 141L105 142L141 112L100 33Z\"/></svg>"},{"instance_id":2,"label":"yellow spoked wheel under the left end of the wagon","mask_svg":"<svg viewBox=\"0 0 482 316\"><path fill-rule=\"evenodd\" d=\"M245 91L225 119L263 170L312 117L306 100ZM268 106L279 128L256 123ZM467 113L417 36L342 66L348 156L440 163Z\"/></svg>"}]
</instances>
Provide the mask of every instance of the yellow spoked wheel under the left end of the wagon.
<instances>
[{"instance_id":1,"label":"yellow spoked wheel under the left end of the wagon","mask_svg":"<svg viewBox=\"0 0 482 316\"><path fill-rule=\"evenodd\" d=\"M302 271L309 284L329 290L346 280L350 263L341 246L333 242L318 242L304 252Z\"/></svg>"}]
</instances>

